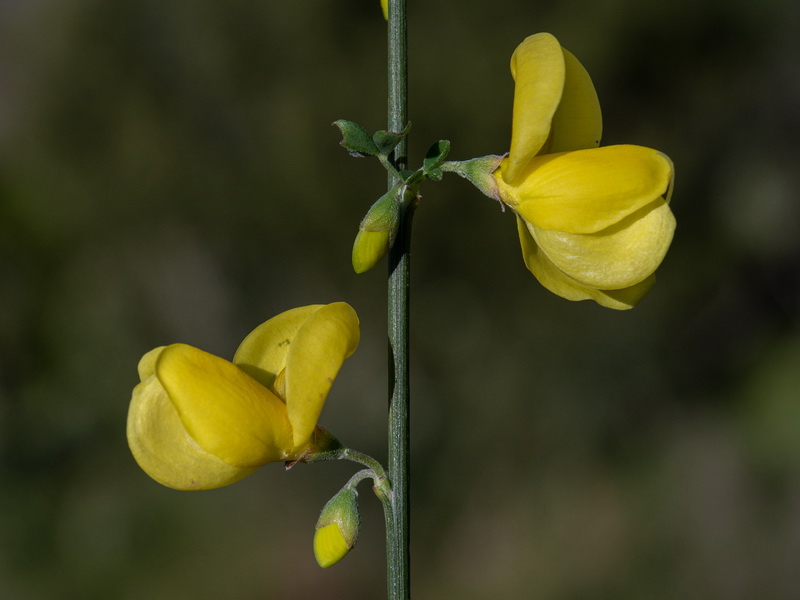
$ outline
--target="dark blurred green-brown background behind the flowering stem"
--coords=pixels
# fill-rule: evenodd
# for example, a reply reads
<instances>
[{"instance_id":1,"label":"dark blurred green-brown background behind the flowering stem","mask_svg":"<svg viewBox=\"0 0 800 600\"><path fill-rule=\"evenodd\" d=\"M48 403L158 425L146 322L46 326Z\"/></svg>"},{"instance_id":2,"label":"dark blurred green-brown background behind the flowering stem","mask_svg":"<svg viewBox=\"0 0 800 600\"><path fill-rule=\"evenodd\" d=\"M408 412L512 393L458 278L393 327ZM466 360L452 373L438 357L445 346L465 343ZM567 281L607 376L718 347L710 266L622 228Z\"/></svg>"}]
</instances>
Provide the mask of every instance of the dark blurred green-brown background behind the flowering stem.
<instances>
[{"instance_id":1,"label":"dark blurred green-brown background behind the flowering stem","mask_svg":"<svg viewBox=\"0 0 800 600\"><path fill-rule=\"evenodd\" d=\"M525 270L509 212L423 188L412 306L418 599L800 597L800 5L410 2L410 158L508 148L508 61L550 31L604 143L674 160L675 242L633 311ZM383 521L311 552L349 464L180 493L130 457L136 363L230 357L291 307L363 340L322 423L385 458L385 185L330 126L385 124L377 0L0 2L0 598L373 600Z\"/></svg>"}]
</instances>

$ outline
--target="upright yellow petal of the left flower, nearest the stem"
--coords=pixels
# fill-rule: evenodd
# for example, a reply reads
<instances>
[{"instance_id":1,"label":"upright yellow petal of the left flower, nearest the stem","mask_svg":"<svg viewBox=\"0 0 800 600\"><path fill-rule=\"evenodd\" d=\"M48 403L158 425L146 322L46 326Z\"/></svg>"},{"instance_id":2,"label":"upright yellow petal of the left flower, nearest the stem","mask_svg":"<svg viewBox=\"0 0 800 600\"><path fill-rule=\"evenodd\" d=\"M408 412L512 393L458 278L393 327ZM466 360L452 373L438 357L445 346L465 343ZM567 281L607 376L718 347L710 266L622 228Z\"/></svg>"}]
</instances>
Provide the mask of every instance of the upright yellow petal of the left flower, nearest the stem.
<instances>
[{"instance_id":1,"label":"upright yellow petal of the left flower, nearest the stem","mask_svg":"<svg viewBox=\"0 0 800 600\"><path fill-rule=\"evenodd\" d=\"M344 302L319 308L297 331L286 359L286 408L295 447L308 442L333 380L359 342L358 316Z\"/></svg>"}]
</instances>

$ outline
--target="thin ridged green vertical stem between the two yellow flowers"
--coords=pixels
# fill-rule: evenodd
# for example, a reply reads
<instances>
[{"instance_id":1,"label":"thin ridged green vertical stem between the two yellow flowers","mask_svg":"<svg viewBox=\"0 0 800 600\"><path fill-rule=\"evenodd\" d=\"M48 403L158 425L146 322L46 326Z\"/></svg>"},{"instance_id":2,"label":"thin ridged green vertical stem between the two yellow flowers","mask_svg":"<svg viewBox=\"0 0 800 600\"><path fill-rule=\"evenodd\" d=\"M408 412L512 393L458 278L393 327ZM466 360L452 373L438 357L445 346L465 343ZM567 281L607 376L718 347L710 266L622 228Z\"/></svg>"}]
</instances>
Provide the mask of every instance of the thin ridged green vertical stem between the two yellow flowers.
<instances>
[{"instance_id":1,"label":"thin ridged green vertical stem between the two yellow flowers","mask_svg":"<svg viewBox=\"0 0 800 600\"><path fill-rule=\"evenodd\" d=\"M408 122L406 0L389 0L389 131ZM406 142L397 146L394 163L406 168ZM389 187L395 180L390 177ZM412 194L415 196L415 194ZM389 479L391 515L386 523L387 587L390 600L410 598L409 553L409 277L411 221L416 197L404 194L400 228L389 253Z\"/></svg>"}]
</instances>

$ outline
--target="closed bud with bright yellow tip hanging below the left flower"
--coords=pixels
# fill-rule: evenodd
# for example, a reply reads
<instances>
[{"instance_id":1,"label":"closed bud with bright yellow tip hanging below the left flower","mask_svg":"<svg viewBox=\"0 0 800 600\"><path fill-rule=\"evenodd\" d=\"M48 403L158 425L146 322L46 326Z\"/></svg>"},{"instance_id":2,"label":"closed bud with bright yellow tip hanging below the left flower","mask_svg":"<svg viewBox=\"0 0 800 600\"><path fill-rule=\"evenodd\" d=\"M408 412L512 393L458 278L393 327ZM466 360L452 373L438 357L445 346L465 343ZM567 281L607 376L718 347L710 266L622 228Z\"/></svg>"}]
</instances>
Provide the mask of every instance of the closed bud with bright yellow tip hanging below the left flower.
<instances>
[{"instance_id":1,"label":"closed bud with bright yellow tip hanging below the left flower","mask_svg":"<svg viewBox=\"0 0 800 600\"><path fill-rule=\"evenodd\" d=\"M314 532L314 557L323 569L342 560L358 539L357 499L358 492L343 488L322 509Z\"/></svg>"}]
</instances>

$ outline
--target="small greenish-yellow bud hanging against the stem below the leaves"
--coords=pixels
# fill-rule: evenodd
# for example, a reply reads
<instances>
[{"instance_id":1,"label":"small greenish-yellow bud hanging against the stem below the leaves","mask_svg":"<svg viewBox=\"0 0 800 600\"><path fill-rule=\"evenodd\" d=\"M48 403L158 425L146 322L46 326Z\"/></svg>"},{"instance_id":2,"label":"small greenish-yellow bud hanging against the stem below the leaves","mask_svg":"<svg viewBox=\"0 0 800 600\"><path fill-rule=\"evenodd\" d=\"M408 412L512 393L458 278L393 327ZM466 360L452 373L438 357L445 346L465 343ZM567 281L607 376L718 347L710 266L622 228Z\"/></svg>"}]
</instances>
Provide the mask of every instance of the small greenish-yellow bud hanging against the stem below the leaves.
<instances>
[{"instance_id":1,"label":"small greenish-yellow bud hanging against the stem below the leaves","mask_svg":"<svg viewBox=\"0 0 800 600\"><path fill-rule=\"evenodd\" d=\"M353 270L364 273L378 264L394 243L400 208L392 190L372 205L358 226L353 242Z\"/></svg>"}]
</instances>

